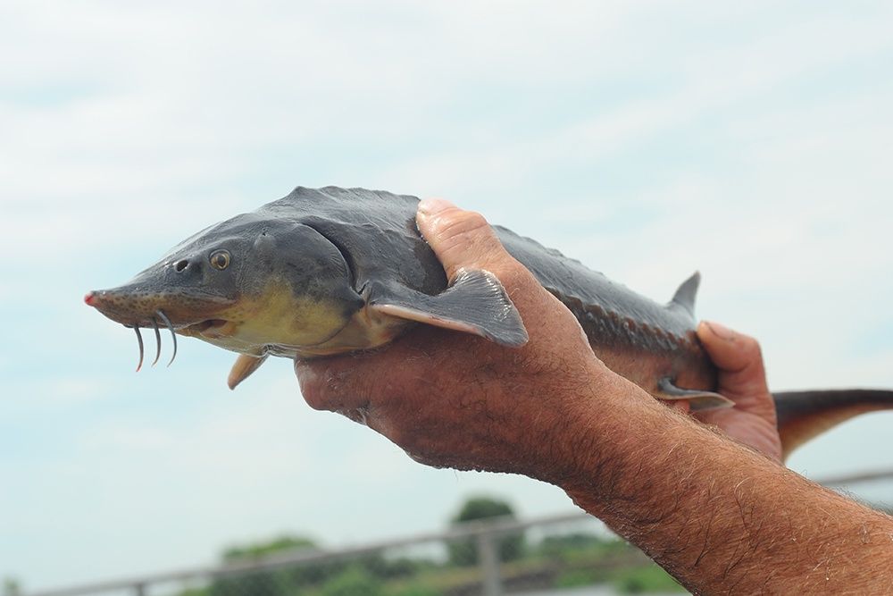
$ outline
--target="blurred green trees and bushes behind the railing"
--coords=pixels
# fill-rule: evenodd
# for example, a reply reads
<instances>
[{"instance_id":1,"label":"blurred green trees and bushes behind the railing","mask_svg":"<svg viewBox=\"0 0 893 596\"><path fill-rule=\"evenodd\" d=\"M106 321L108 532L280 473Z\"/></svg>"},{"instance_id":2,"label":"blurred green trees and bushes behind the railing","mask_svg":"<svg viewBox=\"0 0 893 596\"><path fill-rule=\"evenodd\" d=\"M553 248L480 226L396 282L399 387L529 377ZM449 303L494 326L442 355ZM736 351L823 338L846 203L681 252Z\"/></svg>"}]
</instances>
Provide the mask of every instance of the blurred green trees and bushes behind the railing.
<instances>
[{"instance_id":1,"label":"blurred green trees and bushes behind the railing","mask_svg":"<svg viewBox=\"0 0 893 596\"><path fill-rule=\"evenodd\" d=\"M463 503L450 525L488 517L511 517L498 499ZM684 592L639 550L596 533L558 533L525 542L522 533L499 539L500 573L507 593L607 583L621 593ZM224 563L238 565L271 556L312 553L320 546L305 536L231 547ZM221 575L205 588L179 596L465 596L478 593L482 581L475 541L447 544L446 558L366 554L313 561L266 571ZM11 594L10 596L14 596Z\"/></svg>"}]
</instances>

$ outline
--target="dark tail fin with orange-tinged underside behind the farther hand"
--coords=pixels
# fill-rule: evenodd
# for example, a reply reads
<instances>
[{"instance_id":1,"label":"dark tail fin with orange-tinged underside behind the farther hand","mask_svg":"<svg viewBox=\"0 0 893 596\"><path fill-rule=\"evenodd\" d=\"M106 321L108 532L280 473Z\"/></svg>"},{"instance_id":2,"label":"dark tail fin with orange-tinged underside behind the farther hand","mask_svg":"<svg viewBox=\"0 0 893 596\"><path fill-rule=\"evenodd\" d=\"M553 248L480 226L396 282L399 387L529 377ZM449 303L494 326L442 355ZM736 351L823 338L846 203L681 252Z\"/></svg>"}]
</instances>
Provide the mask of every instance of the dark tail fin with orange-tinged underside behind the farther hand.
<instances>
[{"instance_id":1,"label":"dark tail fin with orange-tinged underside behind the farther hand","mask_svg":"<svg viewBox=\"0 0 893 596\"><path fill-rule=\"evenodd\" d=\"M782 391L774 398L785 458L806 441L853 416L893 409L893 390Z\"/></svg>"}]
</instances>

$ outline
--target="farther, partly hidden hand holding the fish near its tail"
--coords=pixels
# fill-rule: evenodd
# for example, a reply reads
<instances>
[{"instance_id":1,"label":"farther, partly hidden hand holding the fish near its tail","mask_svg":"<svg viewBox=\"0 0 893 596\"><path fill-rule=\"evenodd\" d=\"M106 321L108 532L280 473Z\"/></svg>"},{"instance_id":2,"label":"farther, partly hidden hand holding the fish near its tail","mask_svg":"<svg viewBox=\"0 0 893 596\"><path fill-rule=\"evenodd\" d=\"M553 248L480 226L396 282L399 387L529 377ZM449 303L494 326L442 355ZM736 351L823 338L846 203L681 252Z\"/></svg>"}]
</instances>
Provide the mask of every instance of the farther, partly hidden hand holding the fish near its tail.
<instances>
[{"instance_id":1,"label":"farther, partly hidden hand holding the fish near its tail","mask_svg":"<svg viewBox=\"0 0 893 596\"><path fill-rule=\"evenodd\" d=\"M697 337L720 369L718 392L735 407L695 417L714 424L732 439L781 461L781 440L775 419L775 402L766 387L763 356L756 340L719 323L702 322Z\"/></svg>"}]
</instances>

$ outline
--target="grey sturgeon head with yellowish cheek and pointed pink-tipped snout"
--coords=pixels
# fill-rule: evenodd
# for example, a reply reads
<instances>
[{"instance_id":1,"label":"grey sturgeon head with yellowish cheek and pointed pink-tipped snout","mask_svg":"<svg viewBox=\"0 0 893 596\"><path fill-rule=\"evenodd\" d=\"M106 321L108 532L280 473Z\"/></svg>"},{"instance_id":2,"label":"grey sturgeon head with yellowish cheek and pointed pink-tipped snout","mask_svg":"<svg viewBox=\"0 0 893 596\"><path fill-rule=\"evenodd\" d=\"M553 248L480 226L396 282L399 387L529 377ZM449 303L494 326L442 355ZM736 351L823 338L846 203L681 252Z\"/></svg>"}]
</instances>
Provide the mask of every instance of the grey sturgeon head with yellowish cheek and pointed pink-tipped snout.
<instances>
[{"instance_id":1,"label":"grey sturgeon head with yellowish cheek and pointed pink-tipped snout","mask_svg":"<svg viewBox=\"0 0 893 596\"><path fill-rule=\"evenodd\" d=\"M263 356L337 334L363 304L351 284L346 260L329 239L255 212L198 232L126 284L84 299L127 327L161 323Z\"/></svg>"}]
</instances>

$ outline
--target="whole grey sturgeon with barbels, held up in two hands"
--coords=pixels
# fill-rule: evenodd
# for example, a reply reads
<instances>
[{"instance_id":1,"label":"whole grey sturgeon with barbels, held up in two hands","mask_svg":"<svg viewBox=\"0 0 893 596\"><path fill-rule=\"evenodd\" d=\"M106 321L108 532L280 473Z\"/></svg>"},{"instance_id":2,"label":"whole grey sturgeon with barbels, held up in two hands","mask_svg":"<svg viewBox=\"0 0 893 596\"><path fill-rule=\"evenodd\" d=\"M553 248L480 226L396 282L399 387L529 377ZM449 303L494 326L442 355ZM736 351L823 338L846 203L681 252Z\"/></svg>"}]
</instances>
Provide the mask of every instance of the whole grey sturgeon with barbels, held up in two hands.
<instances>
[{"instance_id":1,"label":"whole grey sturgeon with barbels, held up in two hands","mask_svg":"<svg viewBox=\"0 0 893 596\"><path fill-rule=\"evenodd\" d=\"M298 187L252 213L172 248L127 284L85 297L135 330L159 323L238 352L234 389L269 356L324 357L376 348L417 323L477 334L506 347L527 341L502 284L484 271L452 282L415 226L419 199L380 190ZM693 411L730 407L695 334L698 273L659 304L538 242L494 226L505 248L567 306L605 365L657 399ZM173 358L171 358L171 362ZM893 408L889 390L775 393L787 455L866 411Z\"/></svg>"}]
</instances>

